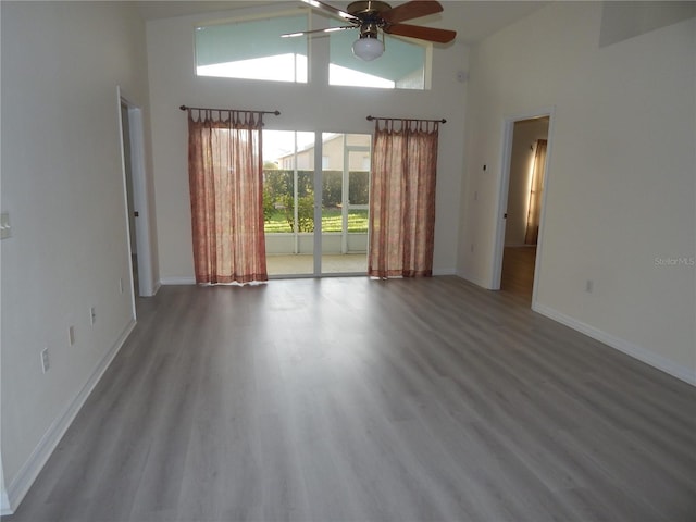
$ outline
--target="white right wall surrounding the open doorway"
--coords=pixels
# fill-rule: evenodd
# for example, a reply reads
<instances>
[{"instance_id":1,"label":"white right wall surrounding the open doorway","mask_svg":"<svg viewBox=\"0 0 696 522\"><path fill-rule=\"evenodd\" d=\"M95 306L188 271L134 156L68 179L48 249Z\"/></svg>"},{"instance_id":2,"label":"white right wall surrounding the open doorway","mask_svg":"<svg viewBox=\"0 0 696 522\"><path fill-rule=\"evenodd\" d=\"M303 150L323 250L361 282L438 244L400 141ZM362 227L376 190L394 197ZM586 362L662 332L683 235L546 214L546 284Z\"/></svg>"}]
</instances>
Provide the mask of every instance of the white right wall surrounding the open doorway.
<instances>
[{"instance_id":1,"label":"white right wall surrounding the open doorway","mask_svg":"<svg viewBox=\"0 0 696 522\"><path fill-rule=\"evenodd\" d=\"M551 3L472 50L458 270L490 286L502 122L552 105L535 309L696 384L695 22L599 48L601 15Z\"/></svg>"}]
</instances>

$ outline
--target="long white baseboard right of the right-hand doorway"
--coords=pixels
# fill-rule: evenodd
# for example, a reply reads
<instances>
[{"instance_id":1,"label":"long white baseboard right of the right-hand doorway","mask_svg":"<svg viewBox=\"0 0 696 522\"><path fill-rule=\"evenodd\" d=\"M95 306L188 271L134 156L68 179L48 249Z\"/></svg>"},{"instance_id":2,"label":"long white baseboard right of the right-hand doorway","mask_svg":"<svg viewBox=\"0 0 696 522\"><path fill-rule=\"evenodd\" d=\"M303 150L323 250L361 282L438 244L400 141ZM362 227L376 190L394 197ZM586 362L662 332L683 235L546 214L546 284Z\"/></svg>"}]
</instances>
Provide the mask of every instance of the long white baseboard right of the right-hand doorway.
<instances>
[{"instance_id":1,"label":"long white baseboard right of the right-hand doorway","mask_svg":"<svg viewBox=\"0 0 696 522\"><path fill-rule=\"evenodd\" d=\"M586 336L592 337L593 339L599 340L600 343L604 343L605 345L608 345L611 348L625 353L626 356L631 356L641 362L645 362L652 368L657 368L658 370L668 373L681 381L684 381L692 386L696 386L696 371L694 371L693 369L675 364L670 359L659 356L654 351L646 350L638 345L602 332L601 330L595 328L594 326L585 324L582 321L577 321L576 319L566 315L557 310L554 310L552 308L545 307L544 304L534 304L532 307L532 310L540 313L542 315L546 315L554 321L564 324L566 326L576 330L577 332L581 332Z\"/></svg>"}]
</instances>

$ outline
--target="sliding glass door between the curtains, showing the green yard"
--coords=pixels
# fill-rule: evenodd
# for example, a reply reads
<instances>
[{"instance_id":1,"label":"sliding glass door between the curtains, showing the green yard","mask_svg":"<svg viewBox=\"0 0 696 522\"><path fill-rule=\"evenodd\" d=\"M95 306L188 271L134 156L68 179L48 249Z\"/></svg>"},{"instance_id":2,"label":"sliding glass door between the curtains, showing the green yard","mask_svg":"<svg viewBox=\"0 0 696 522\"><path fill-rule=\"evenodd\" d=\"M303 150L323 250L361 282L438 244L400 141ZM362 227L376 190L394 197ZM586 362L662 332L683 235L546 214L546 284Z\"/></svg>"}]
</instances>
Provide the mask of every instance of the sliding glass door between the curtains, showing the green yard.
<instances>
[{"instance_id":1,"label":"sliding glass door between the curtains, showing the green yard","mask_svg":"<svg viewBox=\"0 0 696 522\"><path fill-rule=\"evenodd\" d=\"M263 130L270 277L364 275L372 136Z\"/></svg>"}]
</instances>

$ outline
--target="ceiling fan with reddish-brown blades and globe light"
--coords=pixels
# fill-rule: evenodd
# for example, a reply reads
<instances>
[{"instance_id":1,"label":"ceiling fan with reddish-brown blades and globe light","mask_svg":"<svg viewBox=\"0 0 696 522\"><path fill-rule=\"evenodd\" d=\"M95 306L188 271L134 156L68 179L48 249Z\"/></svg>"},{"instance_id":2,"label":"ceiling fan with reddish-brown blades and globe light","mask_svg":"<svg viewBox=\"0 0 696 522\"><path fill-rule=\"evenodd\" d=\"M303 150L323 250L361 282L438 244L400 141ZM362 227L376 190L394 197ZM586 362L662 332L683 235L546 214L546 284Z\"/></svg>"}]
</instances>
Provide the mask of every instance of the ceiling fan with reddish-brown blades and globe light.
<instances>
[{"instance_id":1,"label":"ceiling fan with reddish-brown blades and globe light","mask_svg":"<svg viewBox=\"0 0 696 522\"><path fill-rule=\"evenodd\" d=\"M421 40L447 44L455 39L457 32L402 24L407 20L420 18L443 11L443 5L435 0L413 0L391 8L386 2L360 1L349 3L346 11L334 8L319 0L301 0L314 9L348 22L350 25L328 27L325 29L289 33L283 37L310 35L314 33L332 33L335 30L360 29L360 37L352 46L352 52L362 60L380 58L384 52L384 44L380 41L380 32L388 35L408 36Z\"/></svg>"}]
</instances>

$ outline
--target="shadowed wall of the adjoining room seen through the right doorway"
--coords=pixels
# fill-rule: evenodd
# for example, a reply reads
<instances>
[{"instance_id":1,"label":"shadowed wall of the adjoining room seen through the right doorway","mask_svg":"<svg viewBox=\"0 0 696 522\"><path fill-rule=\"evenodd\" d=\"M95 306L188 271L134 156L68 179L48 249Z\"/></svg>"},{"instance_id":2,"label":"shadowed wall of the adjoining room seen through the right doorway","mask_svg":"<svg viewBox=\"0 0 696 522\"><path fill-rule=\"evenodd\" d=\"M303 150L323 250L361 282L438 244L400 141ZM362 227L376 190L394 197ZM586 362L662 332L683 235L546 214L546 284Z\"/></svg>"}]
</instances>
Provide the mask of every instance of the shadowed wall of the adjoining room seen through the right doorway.
<instances>
[{"instance_id":1,"label":"shadowed wall of the adjoining room seen through the right doorway","mask_svg":"<svg viewBox=\"0 0 696 522\"><path fill-rule=\"evenodd\" d=\"M506 247L524 245L536 141L547 137L548 117L522 120L514 123L506 211L508 217L505 221Z\"/></svg>"}]
</instances>

